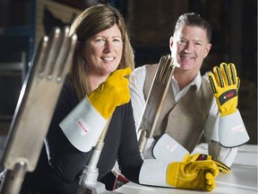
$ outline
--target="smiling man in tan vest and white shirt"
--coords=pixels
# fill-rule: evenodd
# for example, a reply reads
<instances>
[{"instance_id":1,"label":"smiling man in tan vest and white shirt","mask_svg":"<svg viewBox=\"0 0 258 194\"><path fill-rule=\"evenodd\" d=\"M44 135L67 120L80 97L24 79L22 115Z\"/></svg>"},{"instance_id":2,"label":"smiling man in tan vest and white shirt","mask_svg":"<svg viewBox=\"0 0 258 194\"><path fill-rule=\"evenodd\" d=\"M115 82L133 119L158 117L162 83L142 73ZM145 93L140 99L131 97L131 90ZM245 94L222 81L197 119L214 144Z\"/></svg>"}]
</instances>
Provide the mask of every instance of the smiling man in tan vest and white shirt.
<instances>
[{"instance_id":1,"label":"smiling man in tan vest and white shirt","mask_svg":"<svg viewBox=\"0 0 258 194\"><path fill-rule=\"evenodd\" d=\"M205 78L200 73L203 59L208 56L211 50L211 25L196 13L181 15L176 22L174 35L169 40L169 47L176 68L171 84L168 87L168 93L166 94L153 138L149 139L147 143L145 158L153 157L155 145L161 141L159 139L163 134L172 137L178 145L182 145L183 149L186 149L186 152L192 153L204 133L205 141L208 143L209 154L213 159L230 166L236 157L237 145L245 143L249 137L246 135L245 125L236 107L230 114L228 113L230 119L227 116L221 119L220 116L223 114L220 114L221 112L218 114L219 104L217 105L216 103L218 99L214 98L215 92L213 96L211 84L207 77ZM157 67L158 64L141 66L136 68L130 76L131 99L136 128L140 125L142 110L150 92ZM228 67L227 64L226 67L221 66L219 71L221 70L224 75L225 71L228 72ZM232 72L234 73L233 70ZM230 73L232 72L230 71ZM216 82L216 80L214 81ZM230 101L234 101L234 104L237 105L237 91L236 95L232 97L235 98ZM228 106L228 104L226 105ZM219 108L221 106L219 105ZM235 117L236 110L237 116ZM228 119L227 122L232 123L232 120L234 120L231 118L232 115L239 120L241 130L245 134L240 134L240 137L244 139L241 139L241 143L236 143L236 145L221 146L221 142L226 140L221 141L219 139L218 128L225 127L225 125L221 127L223 125L221 120ZM234 136L234 134L230 135L230 138L233 138L233 140L229 140L230 142L234 142L237 139ZM158 151L159 153L162 153L162 151Z\"/></svg>"}]
</instances>

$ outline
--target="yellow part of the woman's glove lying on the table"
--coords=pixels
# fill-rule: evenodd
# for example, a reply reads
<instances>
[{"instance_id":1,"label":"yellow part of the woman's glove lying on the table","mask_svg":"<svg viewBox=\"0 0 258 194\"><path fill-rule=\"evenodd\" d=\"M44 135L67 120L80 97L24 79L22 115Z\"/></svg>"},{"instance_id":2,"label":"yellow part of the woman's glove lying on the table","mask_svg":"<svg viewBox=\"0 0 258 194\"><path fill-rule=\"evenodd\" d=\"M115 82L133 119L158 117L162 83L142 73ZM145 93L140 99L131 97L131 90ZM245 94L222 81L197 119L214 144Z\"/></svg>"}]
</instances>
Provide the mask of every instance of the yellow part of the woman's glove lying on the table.
<instances>
[{"instance_id":1,"label":"yellow part of the woman's glove lying on the table","mask_svg":"<svg viewBox=\"0 0 258 194\"><path fill-rule=\"evenodd\" d=\"M167 182L179 189L211 191L218 174L218 166L211 160L169 163Z\"/></svg>"}]
</instances>

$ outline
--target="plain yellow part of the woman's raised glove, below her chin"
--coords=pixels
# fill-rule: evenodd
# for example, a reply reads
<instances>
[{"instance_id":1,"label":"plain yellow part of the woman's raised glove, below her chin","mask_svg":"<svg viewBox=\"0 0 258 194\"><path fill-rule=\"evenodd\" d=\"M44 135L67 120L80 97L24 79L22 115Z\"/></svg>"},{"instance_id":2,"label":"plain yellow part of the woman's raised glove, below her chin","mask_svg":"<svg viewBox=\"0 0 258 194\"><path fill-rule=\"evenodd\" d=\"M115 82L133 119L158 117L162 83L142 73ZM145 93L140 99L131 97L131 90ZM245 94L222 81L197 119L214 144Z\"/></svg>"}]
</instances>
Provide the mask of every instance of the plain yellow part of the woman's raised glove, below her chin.
<instances>
[{"instance_id":1,"label":"plain yellow part of the woman's raised glove, below her chin","mask_svg":"<svg viewBox=\"0 0 258 194\"><path fill-rule=\"evenodd\" d=\"M125 78L132 72L130 67L119 69L110 74L107 80L89 94L88 99L103 118L108 119L116 106L130 101L129 81Z\"/></svg>"}]
</instances>

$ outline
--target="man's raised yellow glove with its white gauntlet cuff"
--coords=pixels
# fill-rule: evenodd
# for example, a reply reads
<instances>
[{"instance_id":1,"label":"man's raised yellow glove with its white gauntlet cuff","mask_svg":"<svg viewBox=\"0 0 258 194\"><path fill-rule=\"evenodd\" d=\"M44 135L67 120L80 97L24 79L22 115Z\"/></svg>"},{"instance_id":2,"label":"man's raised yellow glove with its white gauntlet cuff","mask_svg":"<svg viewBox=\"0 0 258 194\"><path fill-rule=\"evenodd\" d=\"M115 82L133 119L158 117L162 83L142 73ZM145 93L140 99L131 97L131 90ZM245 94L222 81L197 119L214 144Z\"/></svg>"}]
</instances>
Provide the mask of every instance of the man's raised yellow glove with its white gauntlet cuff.
<instances>
[{"instance_id":1,"label":"man's raised yellow glove with its white gauntlet cuff","mask_svg":"<svg viewBox=\"0 0 258 194\"><path fill-rule=\"evenodd\" d=\"M240 79L236 75L235 65L221 63L215 66L213 73L209 74L209 80L219 108L211 139L224 147L245 144L250 137L236 108Z\"/></svg>"}]
</instances>

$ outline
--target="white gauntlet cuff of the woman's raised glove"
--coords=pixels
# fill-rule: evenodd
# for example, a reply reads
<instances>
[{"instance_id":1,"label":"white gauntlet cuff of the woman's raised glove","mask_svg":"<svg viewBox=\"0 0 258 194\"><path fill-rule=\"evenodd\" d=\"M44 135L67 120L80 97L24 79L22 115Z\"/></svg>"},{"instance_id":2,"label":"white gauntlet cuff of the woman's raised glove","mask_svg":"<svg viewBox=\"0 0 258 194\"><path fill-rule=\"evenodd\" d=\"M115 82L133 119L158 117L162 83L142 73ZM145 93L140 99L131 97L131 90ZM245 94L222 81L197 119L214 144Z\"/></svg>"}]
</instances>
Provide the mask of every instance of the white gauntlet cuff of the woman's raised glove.
<instances>
[{"instance_id":1,"label":"white gauntlet cuff of the woman's raised glove","mask_svg":"<svg viewBox=\"0 0 258 194\"><path fill-rule=\"evenodd\" d=\"M89 152L97 144L107 120L91 105L88 98L79 104L60 122L64 135L82 152Z\"/></svg>"}]
</instances>

